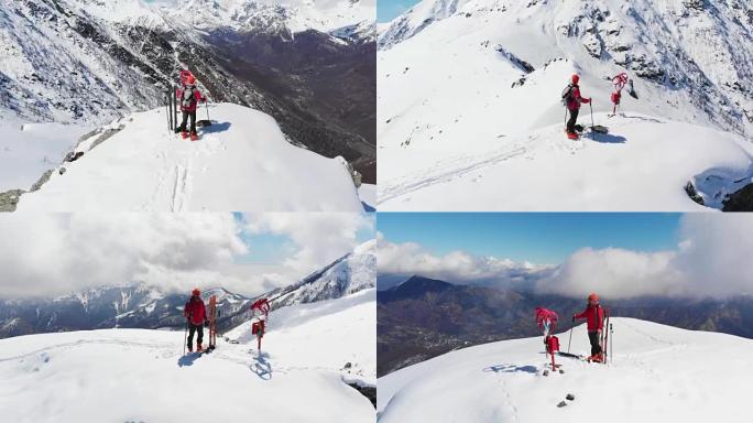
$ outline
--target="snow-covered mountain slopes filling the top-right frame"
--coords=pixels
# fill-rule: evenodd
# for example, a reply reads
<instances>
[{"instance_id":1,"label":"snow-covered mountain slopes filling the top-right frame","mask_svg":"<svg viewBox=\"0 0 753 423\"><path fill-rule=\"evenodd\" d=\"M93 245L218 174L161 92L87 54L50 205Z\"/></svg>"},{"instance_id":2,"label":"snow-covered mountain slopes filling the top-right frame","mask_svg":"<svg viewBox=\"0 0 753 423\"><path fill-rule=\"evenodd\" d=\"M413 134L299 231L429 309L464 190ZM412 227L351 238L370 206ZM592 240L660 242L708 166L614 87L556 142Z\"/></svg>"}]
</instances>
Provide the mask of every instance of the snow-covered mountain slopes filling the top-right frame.
<instances>
[{"instance_id":1,"label":"snow-covered mountain slopes filling the top-right frame","mask_svg":"<svg viewBox=\"0 0 753 423\"><path fill-rule=\"evenodd\" d=\"M703 209L690 183L721 208L753 182L752 23L735 0L423 1L379 35L380 207ZM639 99L609 118L621 72ZM575 73L610 134L565 139Z\"/></svg>"}]
</instances>

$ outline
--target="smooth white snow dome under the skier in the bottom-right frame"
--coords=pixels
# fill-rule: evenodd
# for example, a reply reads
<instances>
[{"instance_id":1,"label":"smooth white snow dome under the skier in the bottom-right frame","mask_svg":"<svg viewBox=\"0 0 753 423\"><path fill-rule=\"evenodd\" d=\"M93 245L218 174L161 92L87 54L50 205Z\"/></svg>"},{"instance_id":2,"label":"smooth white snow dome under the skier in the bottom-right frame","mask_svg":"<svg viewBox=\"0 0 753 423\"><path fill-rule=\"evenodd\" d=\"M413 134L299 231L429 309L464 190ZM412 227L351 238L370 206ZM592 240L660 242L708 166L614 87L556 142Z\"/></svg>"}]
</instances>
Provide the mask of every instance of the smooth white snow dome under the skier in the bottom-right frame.
<instances>
[{"instance_id":1,"label":"smooth white snow dome under the skier in the bottom-right frame","mask_svg":"<svg viewBox=\"0 0 753 423\"><path fill-rule=\"evenodd\" d=\"M380 423L710 422L747 414L753 340L613 318L613 362L557 357L565 373L542 375L542 337L470 347L378 381ZM558 335L566 349L568 333ZM590 350L585 325L571 352ZM557 408L571 393L574 401Z\"/></svg>"}]
</instances>

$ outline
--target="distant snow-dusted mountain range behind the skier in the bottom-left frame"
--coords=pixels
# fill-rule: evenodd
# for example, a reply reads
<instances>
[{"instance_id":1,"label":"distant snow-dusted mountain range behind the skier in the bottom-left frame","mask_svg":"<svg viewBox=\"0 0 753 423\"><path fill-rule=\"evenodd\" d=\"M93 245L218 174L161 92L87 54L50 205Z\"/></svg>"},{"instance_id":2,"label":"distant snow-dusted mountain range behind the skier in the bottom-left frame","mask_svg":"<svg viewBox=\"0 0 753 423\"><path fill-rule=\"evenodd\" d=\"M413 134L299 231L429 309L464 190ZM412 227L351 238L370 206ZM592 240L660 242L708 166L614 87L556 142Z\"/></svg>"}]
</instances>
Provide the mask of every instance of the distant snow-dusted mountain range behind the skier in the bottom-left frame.
<instances>
[{"instance_id":1,"label":"distant snow-dusted mountain range behind the skier in the bottom-left frame","mask_svg":"<svg viewBox=\"0 0 753 423\"><path fill-rule=\"evenodd\" d=\"M338 299L375 286L373 241L336 260L287 288L258 297L248 297L222 288L201 293L205 302L217 296L219 332L248 321L249 307L259 297L272 301L272 308ZM101 286L79 293L42 300L0 300L0 338L40 334L100 329L179 328L186 294L165 293L156 286L137 283Z\"/></svg>"}]
</instances>

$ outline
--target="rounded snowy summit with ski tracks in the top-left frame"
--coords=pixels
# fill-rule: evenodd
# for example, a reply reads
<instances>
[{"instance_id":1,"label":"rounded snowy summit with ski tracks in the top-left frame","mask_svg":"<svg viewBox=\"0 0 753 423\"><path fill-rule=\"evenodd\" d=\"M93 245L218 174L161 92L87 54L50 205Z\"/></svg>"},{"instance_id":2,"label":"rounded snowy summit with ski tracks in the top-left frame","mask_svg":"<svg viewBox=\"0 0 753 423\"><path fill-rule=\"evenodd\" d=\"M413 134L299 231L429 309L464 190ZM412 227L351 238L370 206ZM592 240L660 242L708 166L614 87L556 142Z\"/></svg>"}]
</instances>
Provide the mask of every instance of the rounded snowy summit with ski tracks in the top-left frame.
<instances>
[{"instance_id":1,"label":"rounded snowy summit with ski tracks in the top-left frame","mask_svg":"<svg viewBox=\"0 0 753 423\"><path fill-rule=\"evenodd\" d=\"M19 210L362 212L345 160L290 144L274 119L231 104L192 142L171 133L164 109L113 122L64 174L24 194Z\"/></svg>"}]
</instances>

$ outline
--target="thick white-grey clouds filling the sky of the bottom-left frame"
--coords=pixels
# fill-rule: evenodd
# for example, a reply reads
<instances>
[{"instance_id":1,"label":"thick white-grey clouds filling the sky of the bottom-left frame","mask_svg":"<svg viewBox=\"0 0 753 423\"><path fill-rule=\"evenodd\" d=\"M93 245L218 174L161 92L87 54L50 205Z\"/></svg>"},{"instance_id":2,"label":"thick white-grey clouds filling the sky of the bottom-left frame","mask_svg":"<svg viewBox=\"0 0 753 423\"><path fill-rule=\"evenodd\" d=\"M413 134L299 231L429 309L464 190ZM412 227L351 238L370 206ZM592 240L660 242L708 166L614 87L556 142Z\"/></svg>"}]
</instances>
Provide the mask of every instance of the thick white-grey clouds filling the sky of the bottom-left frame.
<instances>
[{"instance_id":1,"label":"thick white-grey clouds filling the sky of the bottom-left frame","mask_svg":"<svg viewBox=\"0 0 753 423\"><path fill-rule=\"evenodd\" d=\"M223 286L258 294L329 264L331 257L352 250L354 228L373 227L368 217L329 215L260 214L238 221L230 214L4 214L0 296L50 296L139 281L168 292ZM291 258L238 262L254 253L247 225L258 234L290 236L294 248L284 252Z\"/></svg>"}]
</instances>

